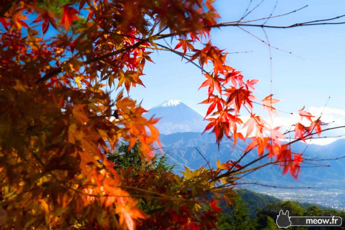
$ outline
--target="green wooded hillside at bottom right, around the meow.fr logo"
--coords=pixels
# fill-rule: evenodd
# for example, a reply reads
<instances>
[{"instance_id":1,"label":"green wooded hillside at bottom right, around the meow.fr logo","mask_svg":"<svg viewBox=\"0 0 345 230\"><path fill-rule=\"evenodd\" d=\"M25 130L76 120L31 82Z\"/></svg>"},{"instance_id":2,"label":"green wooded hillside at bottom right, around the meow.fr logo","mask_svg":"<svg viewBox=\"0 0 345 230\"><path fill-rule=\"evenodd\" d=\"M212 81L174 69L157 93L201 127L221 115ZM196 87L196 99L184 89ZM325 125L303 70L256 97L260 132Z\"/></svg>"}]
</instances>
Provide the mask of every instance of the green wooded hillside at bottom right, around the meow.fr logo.
<instances>
[{"instance_id":1,"label":"green wooded hillside at bottom right, around the meow.fr logo","mask_svg":"<svg viewBox=\"0 0 345 230\"><path fill-rule=\"evenodd\" d=\"M235 207L224 207L219 214L217 228L221 230L278 230L276 219L279 211L288 210L289 216L340 216L345 219L345 211L317 206L316 204L296 201L282 201L275 197L256 193L246 189L237 189L239 197L235 197ZM307 208L305 208L307 207ZM332 227L334 230L345 230L342 226ZM326 230L327 227L289 227L291 230Z\"/></svg>"}]
</instances>

